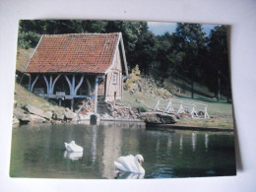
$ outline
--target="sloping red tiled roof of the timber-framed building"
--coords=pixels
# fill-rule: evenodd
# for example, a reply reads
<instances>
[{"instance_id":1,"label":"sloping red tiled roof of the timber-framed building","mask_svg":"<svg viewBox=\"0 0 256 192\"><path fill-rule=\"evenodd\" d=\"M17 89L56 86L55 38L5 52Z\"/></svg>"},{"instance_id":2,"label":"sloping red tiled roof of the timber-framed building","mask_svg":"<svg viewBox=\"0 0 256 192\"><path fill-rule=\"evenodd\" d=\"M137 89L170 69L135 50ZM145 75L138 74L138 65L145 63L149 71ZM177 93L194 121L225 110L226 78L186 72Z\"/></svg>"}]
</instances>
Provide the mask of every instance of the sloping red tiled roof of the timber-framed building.
<instances>
[{"instance_id":1,"label":"sloping red tiled roof of the timber-framed building","mask_svg":"<svg viewBox=\"0 0 256 192\"><path fill-rule=\"evenodd\" d=\"M96 73L111 66L119 32L42 35L27 73Z\"/></svg>"}]
</instances>

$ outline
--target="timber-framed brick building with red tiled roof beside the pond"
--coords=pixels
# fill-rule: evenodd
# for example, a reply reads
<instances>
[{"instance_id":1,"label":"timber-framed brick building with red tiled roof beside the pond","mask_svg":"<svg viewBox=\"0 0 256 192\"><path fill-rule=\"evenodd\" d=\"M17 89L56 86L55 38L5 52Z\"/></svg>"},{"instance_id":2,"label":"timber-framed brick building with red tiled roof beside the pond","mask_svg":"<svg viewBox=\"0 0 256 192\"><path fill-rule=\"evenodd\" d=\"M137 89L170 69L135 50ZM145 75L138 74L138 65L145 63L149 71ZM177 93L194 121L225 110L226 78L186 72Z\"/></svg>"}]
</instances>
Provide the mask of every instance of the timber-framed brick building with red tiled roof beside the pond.
<instances>
[{"instance_id":1,"label":"timber-framed brick building with red tiled roof beside the pond","mask_svg":"<svg viewBox=\"0 0 256 192\"><path fill-rule=\"evenodd\" d=\"M29 91L70 107L93 99L113 101L123 96L128 76L121 32L43 34L25 72Z\"/></svg>"}]
</instances>

